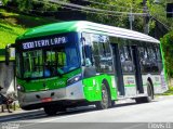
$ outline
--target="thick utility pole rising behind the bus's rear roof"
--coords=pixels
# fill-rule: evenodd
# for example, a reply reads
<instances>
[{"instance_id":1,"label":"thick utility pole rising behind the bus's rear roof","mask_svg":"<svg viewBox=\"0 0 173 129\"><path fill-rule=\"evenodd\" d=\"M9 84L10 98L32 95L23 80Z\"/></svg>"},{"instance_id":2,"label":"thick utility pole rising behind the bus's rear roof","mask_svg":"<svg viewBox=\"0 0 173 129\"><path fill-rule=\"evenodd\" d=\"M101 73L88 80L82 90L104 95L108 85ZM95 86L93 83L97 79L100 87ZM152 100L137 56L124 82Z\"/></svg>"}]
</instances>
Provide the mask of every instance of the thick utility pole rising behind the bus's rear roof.
<instances>
[{"instance_id":1,"label":"thick utility pole rising behind the bus's rear roof","mask_svg":"<svg viewBox=\"0 0 173 129\"><path fill-rule=\"evenodd\" d=\"M143 0L143 13L144 13L144 33L149 33L149 24L148 24L148 12L147 12L147 0Z\"/></svg>"}]
</instances>

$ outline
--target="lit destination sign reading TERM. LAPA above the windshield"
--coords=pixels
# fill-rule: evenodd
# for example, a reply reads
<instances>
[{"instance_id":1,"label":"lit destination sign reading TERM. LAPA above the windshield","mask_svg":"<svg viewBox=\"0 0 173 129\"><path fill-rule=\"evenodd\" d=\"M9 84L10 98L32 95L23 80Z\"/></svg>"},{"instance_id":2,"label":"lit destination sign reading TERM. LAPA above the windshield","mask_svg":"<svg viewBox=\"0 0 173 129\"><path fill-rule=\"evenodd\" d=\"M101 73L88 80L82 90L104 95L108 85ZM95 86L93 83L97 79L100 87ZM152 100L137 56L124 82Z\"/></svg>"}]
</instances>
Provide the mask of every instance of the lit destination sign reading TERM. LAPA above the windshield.
<instances>
[{"instance_id":1,"label":"lit destination sign reading TERM. LAPA above the windshield","mask_svg":"<svg viewBox=\"0 0 173 129\"><path fill-rule=\"evenodd\" d=\"M23 43L23 50L51 47L67 43L67 37L54 37L50 39L40 39L35 41L28 41Z\"/></svg>"}]
</instances>

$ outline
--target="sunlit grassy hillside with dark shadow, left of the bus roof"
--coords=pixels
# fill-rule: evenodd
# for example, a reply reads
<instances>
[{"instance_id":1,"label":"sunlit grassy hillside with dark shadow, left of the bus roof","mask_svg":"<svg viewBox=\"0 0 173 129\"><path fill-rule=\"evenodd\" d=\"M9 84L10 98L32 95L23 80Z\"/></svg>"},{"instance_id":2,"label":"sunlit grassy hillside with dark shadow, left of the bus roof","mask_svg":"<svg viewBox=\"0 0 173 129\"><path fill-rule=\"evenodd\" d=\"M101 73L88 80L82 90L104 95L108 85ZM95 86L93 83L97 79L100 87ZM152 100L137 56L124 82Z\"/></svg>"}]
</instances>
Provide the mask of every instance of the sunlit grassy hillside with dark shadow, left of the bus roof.
<instances>
[{"instance_id":1,"label":"sunlit grassy hillside with dark shadow, left of the bus roof","mask_svg":"<svg viewBox=\"0 0 173 129\"><path fill-rule=\"evenodd\" d=\"M29 16L0 9L0 49L4 49L8 43L14 43L16 37L28 28L55 22L57 21L53 18Z\"/></svg>"}]
</instances>

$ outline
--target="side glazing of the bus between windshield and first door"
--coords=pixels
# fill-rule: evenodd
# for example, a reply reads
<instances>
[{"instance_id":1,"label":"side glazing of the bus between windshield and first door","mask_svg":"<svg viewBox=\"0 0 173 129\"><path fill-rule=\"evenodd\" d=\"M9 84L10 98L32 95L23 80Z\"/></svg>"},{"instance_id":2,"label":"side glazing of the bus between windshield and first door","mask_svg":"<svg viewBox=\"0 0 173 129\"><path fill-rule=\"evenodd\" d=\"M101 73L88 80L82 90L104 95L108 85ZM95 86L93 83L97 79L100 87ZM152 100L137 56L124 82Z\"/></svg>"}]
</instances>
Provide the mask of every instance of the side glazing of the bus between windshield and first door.
<instances>
[{"instance_id":1,"label":"side glazing of the bus between windshield and first door","mask_svg":"<svg viewBox=\"0 0 173 129\"><path fill-rule=\"evenodd\" d=\"M83 34L82 41L85 62L94 66L97 73L114 73L109 38L103 35Z\"/></svg>"}]
</instances>

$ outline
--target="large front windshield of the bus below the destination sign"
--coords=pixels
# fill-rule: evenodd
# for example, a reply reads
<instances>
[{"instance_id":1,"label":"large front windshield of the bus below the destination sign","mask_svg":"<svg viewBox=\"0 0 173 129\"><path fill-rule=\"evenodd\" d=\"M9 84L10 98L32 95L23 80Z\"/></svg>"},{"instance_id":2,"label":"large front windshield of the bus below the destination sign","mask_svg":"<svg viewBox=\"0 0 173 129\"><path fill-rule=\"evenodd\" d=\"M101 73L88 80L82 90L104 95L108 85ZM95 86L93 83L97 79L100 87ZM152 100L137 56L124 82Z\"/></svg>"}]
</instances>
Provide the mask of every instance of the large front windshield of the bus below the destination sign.
<instances>
[{"instance_id":1,"label":"large front windshield of the bus below the destination sign","mask_svg":"<svg viewBox=\"0 0 173 129\"><path fill-rule=\"evenodd\" d=\"M53 77L68 73L79 67L77 55L76 48L70 46L23 52L23 77Z\"/></svg>"}]
</instances>

